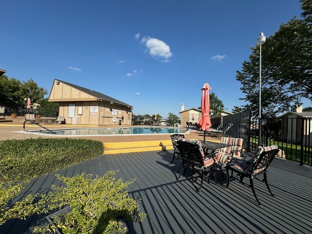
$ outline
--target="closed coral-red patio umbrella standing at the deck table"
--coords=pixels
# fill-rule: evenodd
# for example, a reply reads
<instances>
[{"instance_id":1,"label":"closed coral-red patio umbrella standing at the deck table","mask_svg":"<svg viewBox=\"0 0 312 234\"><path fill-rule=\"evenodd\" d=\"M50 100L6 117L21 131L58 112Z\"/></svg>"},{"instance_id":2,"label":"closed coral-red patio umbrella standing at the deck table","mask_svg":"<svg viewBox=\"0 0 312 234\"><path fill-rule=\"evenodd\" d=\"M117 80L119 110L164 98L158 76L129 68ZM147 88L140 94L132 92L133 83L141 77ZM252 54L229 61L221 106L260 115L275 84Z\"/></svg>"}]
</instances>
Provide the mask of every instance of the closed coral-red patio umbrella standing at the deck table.
<instances>
[{"instance_id":1,"label":"closed coral-red patio umbrella standing at the deck table","mask_svg":"<svg viewBox=\"0 0 312 234\"><path fill-rule=\"evenodd\" d=\"M197 125L200 129L204 131L204 142L206 140L206 130L209 130L211 127L211 121L209 116L210 111L210 100L209 100L209 90L211 90L208 83L204 83L204 86L201 88L202 96L201 96L201 114L202 116L199 118Z\"/></svg>"}]
</instances>

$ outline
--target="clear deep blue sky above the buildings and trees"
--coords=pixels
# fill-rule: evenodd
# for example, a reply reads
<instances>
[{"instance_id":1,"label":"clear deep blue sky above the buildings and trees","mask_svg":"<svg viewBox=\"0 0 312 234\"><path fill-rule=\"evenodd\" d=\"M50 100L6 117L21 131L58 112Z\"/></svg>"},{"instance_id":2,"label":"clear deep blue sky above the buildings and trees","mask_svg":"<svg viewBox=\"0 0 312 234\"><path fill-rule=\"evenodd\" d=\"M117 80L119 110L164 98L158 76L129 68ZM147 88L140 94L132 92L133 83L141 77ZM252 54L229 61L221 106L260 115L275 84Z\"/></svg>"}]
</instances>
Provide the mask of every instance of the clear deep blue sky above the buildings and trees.
<instances>
[{"instance_id":1,"label":"clear deep blue sky above the buildings and trees","mask_svg":"<svg viewBox=\"0 0 312 234\"><path fill-rule=\"evenodd\" d=\"M251 46L301 9L298 0L3 0L0 14L9 78L48 94L56 78L167 117L181 103L199 107L206 82L226 111L243 105L235 76Z\"/></svg>"}]
</instances>

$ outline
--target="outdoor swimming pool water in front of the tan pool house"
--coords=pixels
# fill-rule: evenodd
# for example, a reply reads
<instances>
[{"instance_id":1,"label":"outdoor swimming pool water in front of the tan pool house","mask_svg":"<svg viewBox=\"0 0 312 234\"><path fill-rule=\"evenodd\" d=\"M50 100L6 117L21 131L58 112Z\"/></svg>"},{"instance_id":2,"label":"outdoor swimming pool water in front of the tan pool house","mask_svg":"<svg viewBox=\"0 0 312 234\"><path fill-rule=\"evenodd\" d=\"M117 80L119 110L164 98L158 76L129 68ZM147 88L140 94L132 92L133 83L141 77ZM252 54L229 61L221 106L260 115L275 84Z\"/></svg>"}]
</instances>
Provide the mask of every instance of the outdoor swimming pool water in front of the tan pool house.
<instances>
[{"instance_id":1,"label":"outdoor swimming pool water in front of the tan pool house","mask_svg":"<svg viewBox=\"0 0 312 234\"><path fill-rule=\"evenodd\" d=\"M53 129L50 131L29 131L39 134L61 135L61 136L90 136L90 135L134 135L134 134L183 134L186 128L168 127L133 127L133 128L73 128L73 129Z\"/></svg>"}]
</instances>

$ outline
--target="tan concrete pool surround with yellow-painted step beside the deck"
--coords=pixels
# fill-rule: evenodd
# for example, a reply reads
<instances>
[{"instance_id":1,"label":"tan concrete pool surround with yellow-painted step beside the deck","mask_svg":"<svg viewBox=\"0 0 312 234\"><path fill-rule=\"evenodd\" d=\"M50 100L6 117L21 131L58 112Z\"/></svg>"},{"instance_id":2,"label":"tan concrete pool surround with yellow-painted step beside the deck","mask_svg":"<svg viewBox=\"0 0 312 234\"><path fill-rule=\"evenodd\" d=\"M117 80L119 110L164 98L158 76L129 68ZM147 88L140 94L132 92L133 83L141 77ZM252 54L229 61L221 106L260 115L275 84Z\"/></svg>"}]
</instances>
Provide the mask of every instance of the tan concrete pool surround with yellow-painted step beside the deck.
<instances>
[{"instance_id":1,"label":"tan concrete pool surround with yellow-painted step beside the deck","mask_svg":"<svg viewBox=\"0 0 312 234\"><path fill-rule=\"evenodd\" d=\"M24 117L5 117L6 119L12 119L12 122L0 122L0 140L7 139L27 139L27 138L51 138L59 136L44 136L39 134L22 133ZM67 128L118 128L118 125L111 126L95 126L95 125L79 125L79 124L42 124L42 126L48 129L67 129ZM149 125L140 125L139 127L148 127ZM134 127L134 126L121 126L121 127ZM161 126L160 126L161 127ZM39 130L42 129L36 124L26 122L25 130ZM127 135L127 136L90 136L90 137L71 137L71 138L83 138L83 139L94 139L103 142L105 147L104 154L118 154L118 153L129 153L129 152L144 152L154 150L169 150L173 149L171 143L171 134L150 134L150 135ZM191 139L204 139L203 131L194 129L189 133L184 134L186 138ZM68 137L68 136L66 136ZM220 137L209 137L206 136L206 140L219 142Z\"/></svg>"}]
</instances>

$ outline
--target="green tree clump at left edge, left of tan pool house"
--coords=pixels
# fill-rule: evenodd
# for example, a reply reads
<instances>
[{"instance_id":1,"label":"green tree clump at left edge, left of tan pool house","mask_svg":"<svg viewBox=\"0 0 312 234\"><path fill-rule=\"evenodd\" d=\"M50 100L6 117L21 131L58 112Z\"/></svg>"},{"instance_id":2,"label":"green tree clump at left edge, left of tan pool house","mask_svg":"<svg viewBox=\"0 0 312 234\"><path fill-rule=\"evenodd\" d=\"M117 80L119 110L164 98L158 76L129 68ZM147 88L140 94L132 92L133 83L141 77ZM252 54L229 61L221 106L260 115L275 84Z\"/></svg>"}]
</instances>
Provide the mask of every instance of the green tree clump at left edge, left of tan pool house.
<instances>
[{"instance_id":1,"label":"green tree clump at left edge, left of tan pool house","mask_svg":"<svg viewBox=\"0 0 312 234\"><path fill-rule=\"evenodd\" d=\"M43 88L39 88L33 79L20 82L19 79L8 78L5 75L0 76L0 105L18 106L26 105L27 98L32 102L39 103L47 94Z\"/></svg>"}]
</instances>

